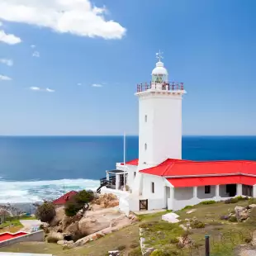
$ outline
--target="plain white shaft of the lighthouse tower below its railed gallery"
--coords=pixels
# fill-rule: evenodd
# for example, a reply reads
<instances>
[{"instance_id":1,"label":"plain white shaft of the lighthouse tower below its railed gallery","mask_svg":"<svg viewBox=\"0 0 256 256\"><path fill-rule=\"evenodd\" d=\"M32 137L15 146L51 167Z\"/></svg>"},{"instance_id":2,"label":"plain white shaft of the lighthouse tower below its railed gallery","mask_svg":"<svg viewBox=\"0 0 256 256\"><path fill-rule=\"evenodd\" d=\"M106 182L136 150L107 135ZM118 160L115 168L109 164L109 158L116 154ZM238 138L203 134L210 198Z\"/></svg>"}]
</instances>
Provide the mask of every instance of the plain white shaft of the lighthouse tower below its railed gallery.
<instances>
[{"instance_id":1,"label":"plain white shaft of the lighthouse tower below its railed gallery","mask_svg":"<svg viewBox=\"0 0 256 256\"><path fill-rule=\"evenodd\" d=\"M139 168L149 168L168 158L181 159L182 95L140 92L138 96Z\"/></svg>"}]
</instances>

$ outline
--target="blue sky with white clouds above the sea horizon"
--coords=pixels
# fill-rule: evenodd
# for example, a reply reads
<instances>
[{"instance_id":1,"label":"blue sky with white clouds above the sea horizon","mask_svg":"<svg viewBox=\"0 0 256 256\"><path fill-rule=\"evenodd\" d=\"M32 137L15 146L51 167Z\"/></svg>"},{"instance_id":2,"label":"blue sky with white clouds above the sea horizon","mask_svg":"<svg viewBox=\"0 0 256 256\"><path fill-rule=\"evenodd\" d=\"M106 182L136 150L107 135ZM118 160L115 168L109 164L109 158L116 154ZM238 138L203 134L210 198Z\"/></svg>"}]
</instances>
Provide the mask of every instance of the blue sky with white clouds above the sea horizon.
<instances>
[{"instance_id":1,"label":"blue sky with white clouds above the sea horizon","mask_svg":"<svg viewBox=\"0 0 256 256\"><path fill-rule=\"evenodd\" d=\"M255 0L0 0L0 135L137 135L136 85L159 50L187 91L183 135L256 135L255 13Z\"/></svg>"}]
</instances>

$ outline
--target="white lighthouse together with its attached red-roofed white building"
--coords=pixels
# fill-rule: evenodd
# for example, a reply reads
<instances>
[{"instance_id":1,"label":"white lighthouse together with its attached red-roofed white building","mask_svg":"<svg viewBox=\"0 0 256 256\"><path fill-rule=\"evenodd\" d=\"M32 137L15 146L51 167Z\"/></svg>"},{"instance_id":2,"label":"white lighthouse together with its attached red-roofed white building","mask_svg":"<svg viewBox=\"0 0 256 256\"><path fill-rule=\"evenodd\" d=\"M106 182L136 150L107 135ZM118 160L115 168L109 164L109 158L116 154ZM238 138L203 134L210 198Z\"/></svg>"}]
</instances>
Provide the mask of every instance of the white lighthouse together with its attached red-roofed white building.
<instances>
[{"instance_id":1,"label":"white lighthouse together with its attached red-roofed white building","mask_svg":"<svg viewBox=\"0 0 256 256\"><path fill-rule=\"evenodd\" d=\"M169 83L159 61L152 82L137 85L139 159L116 164L101 183L122 211L179 210L205 200L256 197L256 162L193 162L182 159L183 83Z\"/></svg>"}]
</instances>

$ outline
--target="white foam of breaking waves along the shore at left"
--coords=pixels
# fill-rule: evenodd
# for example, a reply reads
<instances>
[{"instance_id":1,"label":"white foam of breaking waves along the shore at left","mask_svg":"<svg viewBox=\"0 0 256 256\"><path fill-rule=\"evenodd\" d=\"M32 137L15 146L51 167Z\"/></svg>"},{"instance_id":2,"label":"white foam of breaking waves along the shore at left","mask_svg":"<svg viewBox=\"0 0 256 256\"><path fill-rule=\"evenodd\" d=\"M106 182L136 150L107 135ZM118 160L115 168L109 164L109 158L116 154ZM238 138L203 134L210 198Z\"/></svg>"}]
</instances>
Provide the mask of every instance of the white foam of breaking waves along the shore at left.
<instances>
[{"instance_id":1,"label":"white foam of breaking waves along the shore at left","mask_svg":"<svg viewBox=\"0 0 256 256\"><path fill-rule=\"evenodd\" d=\"M30 203L52 200L71 190L95 191L99 181L89 179L62 179L51 181L3 181L0 180L0 203Z\"/></svg>"}]
</instances>

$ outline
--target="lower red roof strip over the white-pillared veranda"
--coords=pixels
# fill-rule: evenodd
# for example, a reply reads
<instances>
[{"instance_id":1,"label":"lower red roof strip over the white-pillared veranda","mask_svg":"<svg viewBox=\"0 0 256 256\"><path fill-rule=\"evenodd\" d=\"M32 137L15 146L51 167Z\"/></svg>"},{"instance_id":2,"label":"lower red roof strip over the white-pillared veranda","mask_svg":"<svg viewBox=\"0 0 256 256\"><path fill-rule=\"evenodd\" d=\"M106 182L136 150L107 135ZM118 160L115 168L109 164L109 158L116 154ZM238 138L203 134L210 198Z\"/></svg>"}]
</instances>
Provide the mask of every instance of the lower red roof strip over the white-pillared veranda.
<instances>
[{"instance_id":1,"label":"lower red roof strip over the white-pillared veranda","mask_svg":"<svg viewBox=\"0 0 256 256\"><path fill-rule=\"evenodd\" d=\"M194 177L194 178L167 178L173 187L200 187L206 185L244 184L253 186L255 177L243 175L219 176L219 177Z\"/></svg>"}]
</instances>

